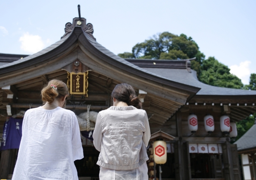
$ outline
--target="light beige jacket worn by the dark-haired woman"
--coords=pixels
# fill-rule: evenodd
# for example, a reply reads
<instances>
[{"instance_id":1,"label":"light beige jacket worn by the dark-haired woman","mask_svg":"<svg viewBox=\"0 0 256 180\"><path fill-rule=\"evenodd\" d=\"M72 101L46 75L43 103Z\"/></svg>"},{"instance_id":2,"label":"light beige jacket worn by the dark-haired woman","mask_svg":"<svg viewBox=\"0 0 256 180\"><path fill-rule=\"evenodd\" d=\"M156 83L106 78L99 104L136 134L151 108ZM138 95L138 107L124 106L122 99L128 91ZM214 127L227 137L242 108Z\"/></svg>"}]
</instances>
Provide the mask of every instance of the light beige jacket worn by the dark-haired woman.
<instances>
[{"instance_id":1,"label":"light beige jacket worn by the dark-haired woman","mask_svg":"<svg viewBox=\"0 0 256 180\"><path fill-rule=\"evenodd\" d=\"M99 112L93 132L93 144L101 152L97 165L114 170L137 168L149 159L149 139L146 111L111 106Z\"/></svg>"}]
</instances>

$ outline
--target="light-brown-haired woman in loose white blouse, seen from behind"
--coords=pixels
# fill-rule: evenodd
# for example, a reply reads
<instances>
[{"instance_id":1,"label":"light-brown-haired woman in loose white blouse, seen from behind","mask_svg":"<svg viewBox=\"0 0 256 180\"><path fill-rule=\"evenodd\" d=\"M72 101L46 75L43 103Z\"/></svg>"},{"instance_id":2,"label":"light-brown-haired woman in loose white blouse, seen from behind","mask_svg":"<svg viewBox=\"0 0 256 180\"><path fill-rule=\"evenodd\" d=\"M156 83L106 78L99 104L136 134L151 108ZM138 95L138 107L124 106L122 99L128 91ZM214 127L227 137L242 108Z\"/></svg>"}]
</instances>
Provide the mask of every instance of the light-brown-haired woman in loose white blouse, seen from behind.
<instances>
[{"instance_id":1,"label":"light-brown-haired woman in loose white blouse, seen from behind","mask_svg":"<svg viewBox=\"0 0 256 180\"><path fill-rule=\"evenodd\" d=\"M12 180L78 180L74 161L84 156L75 113L62 108L68 95L64 82L51 80L44 105L26 111Z\"/></svg>"}]
</instances>

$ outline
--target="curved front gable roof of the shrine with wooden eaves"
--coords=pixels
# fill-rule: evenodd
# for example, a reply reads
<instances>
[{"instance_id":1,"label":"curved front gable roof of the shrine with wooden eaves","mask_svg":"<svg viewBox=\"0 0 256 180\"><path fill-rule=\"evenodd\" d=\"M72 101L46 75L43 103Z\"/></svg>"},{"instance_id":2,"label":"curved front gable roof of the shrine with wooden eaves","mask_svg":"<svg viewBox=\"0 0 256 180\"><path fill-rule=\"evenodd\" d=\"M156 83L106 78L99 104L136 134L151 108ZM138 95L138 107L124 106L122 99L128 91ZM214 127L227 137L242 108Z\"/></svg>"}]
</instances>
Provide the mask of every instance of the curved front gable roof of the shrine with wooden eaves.
<instances>
[{"instance_id":1,"label":"curved front gable roof of the shrine with wooden eaves","mask_svg":"<svg viewBox=\"0 0 256 180\"><path fill-rule=\"evenodd\" d=\"M73 24L78 20L79 18L74 18ZM72 31L67 31L61 40L48 48L0 66L0 87L22 85L23 82L61 71L79 60L104 77L126 82L136 89L146 91L152 104L148 112L155 114L151 120L160 124L167 121L200 90L198 87L169 80L118 57L98 44L92 36L93 31L85 31L86 28L82 27L85 19L81 18L81 21L81 26L75 25Z\"/></svg>"}]
</instances>

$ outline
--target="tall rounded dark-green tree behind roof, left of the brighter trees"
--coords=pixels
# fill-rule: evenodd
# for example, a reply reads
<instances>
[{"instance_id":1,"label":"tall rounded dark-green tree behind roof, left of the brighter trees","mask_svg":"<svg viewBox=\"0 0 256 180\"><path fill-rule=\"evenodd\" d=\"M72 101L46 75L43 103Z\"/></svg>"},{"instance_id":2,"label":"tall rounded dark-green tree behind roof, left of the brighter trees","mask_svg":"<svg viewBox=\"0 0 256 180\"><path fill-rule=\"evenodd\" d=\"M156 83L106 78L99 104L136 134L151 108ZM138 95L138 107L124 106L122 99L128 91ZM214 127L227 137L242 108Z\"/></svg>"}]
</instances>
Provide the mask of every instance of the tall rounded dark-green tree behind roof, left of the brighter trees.
<instances>
[{"instance_id":1,"label":"tall rounded dark-green tree behind roof, left of the brighter trees","mask_svg":"<svg viewBox=\"0 0 256 180\"><path fill-rule=\"evenodd\" d=\"M202 53L200 53L199 47L192 37L163 32L154 35L149 40L137 43L133 46L132 53L125 52L119 55L120 57L127 57L128 55L129 57L143 59L187 59L198 56L198 61L201 62L202 59L197 54Z\"/></svg>"}]
</instances>

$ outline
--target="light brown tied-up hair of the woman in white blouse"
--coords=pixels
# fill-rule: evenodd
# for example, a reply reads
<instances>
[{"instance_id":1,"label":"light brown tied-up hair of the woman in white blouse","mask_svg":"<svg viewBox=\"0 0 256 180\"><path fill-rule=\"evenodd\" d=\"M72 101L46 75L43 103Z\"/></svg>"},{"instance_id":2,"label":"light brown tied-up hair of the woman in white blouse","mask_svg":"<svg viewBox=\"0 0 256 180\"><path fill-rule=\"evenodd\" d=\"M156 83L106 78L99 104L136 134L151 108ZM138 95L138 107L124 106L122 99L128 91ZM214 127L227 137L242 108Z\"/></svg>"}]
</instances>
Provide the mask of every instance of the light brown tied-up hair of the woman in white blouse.
<instances>
[{"instance_id":1,"label":"light brown tied-up hair of the woman in white blouse","mask_svg":"<svg viewBox=\"0 0 256 180\"><path fill-rule=\"evenodd\" d=\"M69 89L67 85L61 80L50 80L41 90L42 100L45 104L46 102L52 103L55 98L61 98L69 94Z\"/></svg>"}]
</instances>

